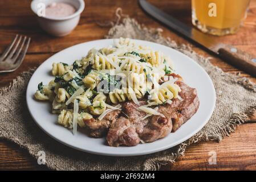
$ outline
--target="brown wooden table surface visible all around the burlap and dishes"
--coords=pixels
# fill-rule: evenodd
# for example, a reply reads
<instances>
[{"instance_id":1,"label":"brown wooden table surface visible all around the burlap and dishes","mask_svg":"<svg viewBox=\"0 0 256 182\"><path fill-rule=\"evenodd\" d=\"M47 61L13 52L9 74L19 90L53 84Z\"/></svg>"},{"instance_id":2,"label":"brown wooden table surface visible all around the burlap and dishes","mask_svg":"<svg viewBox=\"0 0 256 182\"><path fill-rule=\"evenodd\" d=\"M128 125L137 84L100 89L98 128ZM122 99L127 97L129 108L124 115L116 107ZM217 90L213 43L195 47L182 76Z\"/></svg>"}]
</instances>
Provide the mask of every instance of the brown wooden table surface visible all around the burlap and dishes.
<instances>
[{"instance_id":1,"label":"brown wooden table surface visible all around the burlap and dishes","mask_svg":"<svg viewBox=\"0 0 256 182\"><path fill-rule=\"evenodd\" d=\"M35 16L30 10L29 0L1 0L0 1L0 52L6 48L15 34L30 36L32 39L29 52L21 67L13 72L0 75L0 86L7 86L11 80L29 68L38 67L44 60L54 53L89 40L102 39L107 34L107 27L97 26L96 22L104 22L114 18L117 7L123 9L124 14L136 18L147 27L161 27L164 36L169 36L177 43L190 44L187 40L177 36L172 31L161 26L146 15L139 7L137 1L121 0L86 0L86 10L82 14L79 26L72 34L64 38L54 38L45 34L36 24ZM187 24L191 24L190 0L163 0L151 1L166 13L176 16ZM3 8L4 7L4 8ZM220 39L244 51L256 55L256 0L250 3L250 10L244 27L236 35L225 36ZM201 48L191 45L197 53L211 56ZM212 56L211 62L222 68L225 72L237 74L240 71L226 64L224 61ZM241 76L255 78L241 72ZM251 119L256 120L256 119ZM217 164L209 165L209 151L217 152ZM0 139L0 169L47 169L39 166L26 150L17 144ZM256 122L248 122L237 127L235 133L226 137L222 142L201 142L189 146L185 156L165 169L172 170L230 170L230 169L256 169Z\"/></svg>"}]
</instances>

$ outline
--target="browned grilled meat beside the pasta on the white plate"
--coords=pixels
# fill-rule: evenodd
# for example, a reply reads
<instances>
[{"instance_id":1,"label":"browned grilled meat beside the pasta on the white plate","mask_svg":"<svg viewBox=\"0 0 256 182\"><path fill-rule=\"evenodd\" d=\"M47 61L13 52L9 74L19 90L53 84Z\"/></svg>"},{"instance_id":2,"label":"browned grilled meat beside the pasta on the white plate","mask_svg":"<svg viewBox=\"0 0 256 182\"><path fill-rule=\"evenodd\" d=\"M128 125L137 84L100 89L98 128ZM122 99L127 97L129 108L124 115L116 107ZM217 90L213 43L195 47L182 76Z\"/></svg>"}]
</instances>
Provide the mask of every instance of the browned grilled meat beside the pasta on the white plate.
<instances>
[{"instance_id":1,"label":"browned grilled meat beside the pasta on the white plate","mask_svg":"<svg viewBox=\"0 0 256 182\"><path fill-rule=\"evenodd\" d=\"M140 140L154 142L164 138L170 132L176 131L183 123L196 113L199 107L199 100L196 89L190 88L182 81L177 81L181 88L180 97L173 99L172 104L165 104L159 107L159 112L165 117L153 115L142 119L146 113L137 109L134 102L126 102L123 110L128 118L120 117L112 123L107 134L109 146L135 146ZM143 105L143 103L141 103Z\"/></svg>"}]
</instances>

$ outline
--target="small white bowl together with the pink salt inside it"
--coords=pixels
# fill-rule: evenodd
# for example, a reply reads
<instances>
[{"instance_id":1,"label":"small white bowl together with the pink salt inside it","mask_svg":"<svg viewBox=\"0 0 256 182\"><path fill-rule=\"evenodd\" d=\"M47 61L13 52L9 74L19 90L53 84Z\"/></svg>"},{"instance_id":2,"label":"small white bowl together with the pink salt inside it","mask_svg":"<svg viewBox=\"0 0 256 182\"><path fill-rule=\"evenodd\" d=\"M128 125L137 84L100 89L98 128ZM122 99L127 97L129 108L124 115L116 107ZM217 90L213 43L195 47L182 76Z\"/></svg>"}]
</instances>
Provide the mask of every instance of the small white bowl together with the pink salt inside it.
<instances>
[{"instance_id":1,"label":"small white bowl together with the pink salt inside it","mask_svg":"<svg viewBox=\"0 0 256 182\"><path fill-rule=\"evenodd\" d=\"M33 0L31 2L31 9L36 14L40 27L54 36L70 34L78 25L84 6L83 0Z\"/></svg>"}]
</instances>

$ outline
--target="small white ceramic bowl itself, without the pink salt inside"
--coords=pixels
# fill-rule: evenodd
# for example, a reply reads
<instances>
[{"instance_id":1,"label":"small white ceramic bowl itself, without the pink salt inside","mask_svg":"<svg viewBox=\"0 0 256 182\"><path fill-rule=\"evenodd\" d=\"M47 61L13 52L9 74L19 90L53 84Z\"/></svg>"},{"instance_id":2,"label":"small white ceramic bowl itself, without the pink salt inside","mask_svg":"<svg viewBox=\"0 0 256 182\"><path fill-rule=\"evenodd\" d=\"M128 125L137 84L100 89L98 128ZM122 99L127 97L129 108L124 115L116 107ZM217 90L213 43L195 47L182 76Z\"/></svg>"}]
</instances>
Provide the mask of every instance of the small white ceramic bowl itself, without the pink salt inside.
<instances>
[{"instance_id":1,"label":"small white ceramic bowl itself, without the pink salt inside","mask_svg":"<svg viewBox=\"0 0 256 182\"><path fill-rule=\"evenodd\" d=\"M38 11L42 8L42 3L44 7L47 7L53 2L63 2L68 3L75 7L76 12L70 16L65 16L63 18L54 18L47 16L39 16ZM33 0L31 2L31 9L36 14L40 27L48 34L54 36L65 36L70 34L72 30L78 25L80 14L84 10L83 0Z\"/></svg>"}]
</instances>

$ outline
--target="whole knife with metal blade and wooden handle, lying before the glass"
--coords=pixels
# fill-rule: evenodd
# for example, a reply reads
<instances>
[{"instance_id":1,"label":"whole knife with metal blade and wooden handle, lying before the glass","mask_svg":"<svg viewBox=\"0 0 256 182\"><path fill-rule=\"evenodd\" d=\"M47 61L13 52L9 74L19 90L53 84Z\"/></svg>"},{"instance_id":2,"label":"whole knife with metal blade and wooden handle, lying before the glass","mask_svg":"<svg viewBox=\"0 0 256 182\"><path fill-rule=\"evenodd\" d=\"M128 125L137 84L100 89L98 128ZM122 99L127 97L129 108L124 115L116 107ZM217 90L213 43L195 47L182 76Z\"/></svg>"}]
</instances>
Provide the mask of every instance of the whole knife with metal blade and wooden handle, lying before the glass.
<instances>
[{"instance_id":1,"label":"whole knife with metal blade and wooden handle, lying before the glass","mask_svg":"<svg viewBox=\"0 0 256 182\"><path fill-rule=\"evenodd\" d=\"M148 3L146 0L139 0L139 3L145 12L165 24L165 26L172 28L172 30L177 31L179 34L185 36L185 38L217 54L227 63L256 77L256 56L250 55L231 45L217 42L213 35L204 34L196 28L187 26L176 18L173 18L173 16L151 5L151 3Z\"/></svg>"}]
</instances>

